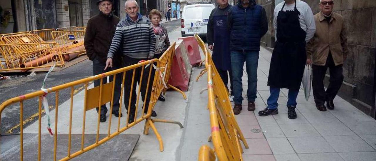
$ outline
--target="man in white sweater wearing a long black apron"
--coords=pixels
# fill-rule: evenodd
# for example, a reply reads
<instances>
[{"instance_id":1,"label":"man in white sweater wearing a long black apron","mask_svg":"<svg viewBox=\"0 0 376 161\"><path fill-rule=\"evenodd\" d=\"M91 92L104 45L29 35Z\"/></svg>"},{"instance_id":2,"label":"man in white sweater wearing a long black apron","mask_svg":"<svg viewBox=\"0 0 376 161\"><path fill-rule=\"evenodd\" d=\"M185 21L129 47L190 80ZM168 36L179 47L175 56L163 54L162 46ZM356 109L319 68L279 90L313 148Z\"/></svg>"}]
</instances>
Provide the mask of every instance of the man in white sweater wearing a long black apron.
<instances>
[{"instance_id":1,"label":"man in white sweater wearing a long black apron","mask_svg":"<svg viewBox=\"0 0 376 161\"><path fill-rule=\"evenodd\" d=\"M278 114L280 88L288 90L288 118L297 117L296 98L307 61L305 46L314 36L316 26L311 8L301 0L284 0L274 9L276 44L271 56L268 106L260 116Z\"/></svg>"}]
</instances>

